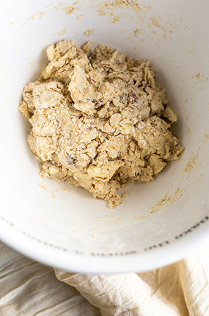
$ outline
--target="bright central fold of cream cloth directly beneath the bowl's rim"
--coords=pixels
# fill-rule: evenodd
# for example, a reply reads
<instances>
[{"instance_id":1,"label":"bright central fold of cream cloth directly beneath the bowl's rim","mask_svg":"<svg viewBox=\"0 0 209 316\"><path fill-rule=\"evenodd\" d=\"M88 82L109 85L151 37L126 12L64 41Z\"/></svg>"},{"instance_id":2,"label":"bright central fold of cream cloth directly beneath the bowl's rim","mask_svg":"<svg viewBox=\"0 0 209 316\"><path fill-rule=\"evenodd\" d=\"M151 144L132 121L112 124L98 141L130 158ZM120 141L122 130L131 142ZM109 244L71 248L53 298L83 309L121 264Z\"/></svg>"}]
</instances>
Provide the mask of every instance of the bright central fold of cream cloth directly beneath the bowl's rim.
<instances>
[{"instance_id":1,"label":"bright central fold of cream cloth directly beneath the bowl's rim","mask_svg":"<svg viewBox=\"0 0 209 316\"><path fill-rule=\"evenodd\" d=\"M103 316L156 316L148 286L135 273L73 275L58 269L55 273L100 308Z\"/></svg>"}]
</instances>

